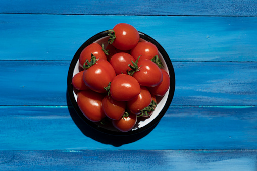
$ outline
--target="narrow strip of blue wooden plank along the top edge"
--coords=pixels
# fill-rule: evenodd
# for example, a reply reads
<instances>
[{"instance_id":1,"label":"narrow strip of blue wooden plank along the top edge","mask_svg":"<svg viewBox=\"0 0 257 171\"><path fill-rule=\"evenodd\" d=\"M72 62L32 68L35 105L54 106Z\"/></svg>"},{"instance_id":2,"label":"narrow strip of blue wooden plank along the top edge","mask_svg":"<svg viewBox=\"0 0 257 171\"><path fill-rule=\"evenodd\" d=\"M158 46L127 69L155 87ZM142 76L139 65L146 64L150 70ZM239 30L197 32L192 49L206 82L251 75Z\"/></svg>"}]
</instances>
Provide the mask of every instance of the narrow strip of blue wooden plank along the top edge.
<instances>
[{"instance_id":1,"label":"narrow strip of blue wooden plank along the top edge","mask_svg":"<svg viewBox=\"0 0 257 171\"><path fill-rule=\"evenodd\" d=\"M0 13L100 15L256 16L255 1L18 1L3 0Z\"/></svg>"}]
</instances>

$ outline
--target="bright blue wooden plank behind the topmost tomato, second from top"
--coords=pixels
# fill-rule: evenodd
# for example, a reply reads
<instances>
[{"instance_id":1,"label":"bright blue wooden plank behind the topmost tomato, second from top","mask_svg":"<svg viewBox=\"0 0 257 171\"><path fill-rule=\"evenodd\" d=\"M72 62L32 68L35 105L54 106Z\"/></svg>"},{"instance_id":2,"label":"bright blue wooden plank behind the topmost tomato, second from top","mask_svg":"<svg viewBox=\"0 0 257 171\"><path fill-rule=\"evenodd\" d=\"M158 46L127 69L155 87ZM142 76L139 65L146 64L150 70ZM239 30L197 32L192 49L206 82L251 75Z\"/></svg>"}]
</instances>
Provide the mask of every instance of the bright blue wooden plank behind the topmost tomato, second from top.
<instances>
[{"instance_id":1,"label":"bright blue wooden plank behind the topmost tomato, second from top","mask_svg":"<svg viewBox=\"0 0 257 171\"><path fill-rule=\"evenodd\" d=\"M124 22L156 39L172 61L256 62L256 20L257 17L0 14L0 60L70 61L88 38Z\"/></svg>"}]
</instances>

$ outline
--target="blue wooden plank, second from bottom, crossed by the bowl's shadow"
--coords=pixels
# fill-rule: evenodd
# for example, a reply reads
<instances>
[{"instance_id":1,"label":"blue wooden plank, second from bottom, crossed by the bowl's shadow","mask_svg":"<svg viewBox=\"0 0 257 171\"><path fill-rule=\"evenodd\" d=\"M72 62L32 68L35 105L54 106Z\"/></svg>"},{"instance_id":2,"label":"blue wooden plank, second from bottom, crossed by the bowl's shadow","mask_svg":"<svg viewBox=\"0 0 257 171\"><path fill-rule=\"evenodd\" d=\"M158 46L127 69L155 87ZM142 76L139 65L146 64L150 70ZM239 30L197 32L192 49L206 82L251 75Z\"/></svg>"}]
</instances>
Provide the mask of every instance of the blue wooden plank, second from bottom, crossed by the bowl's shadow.
<instances>
[{"instance_id":1,"label":"blue wooden plank, second from bottom, crossed by the bowl's shadow","mask_svg":"<svg viewBox=\"0 0 257 171\"><path fill-rule=\"evenodd\" d=\"M0 106L0 150L257 149L256 106L170 106L132 136L97 132L67 106Z\"/></svg>"}]
</instances>

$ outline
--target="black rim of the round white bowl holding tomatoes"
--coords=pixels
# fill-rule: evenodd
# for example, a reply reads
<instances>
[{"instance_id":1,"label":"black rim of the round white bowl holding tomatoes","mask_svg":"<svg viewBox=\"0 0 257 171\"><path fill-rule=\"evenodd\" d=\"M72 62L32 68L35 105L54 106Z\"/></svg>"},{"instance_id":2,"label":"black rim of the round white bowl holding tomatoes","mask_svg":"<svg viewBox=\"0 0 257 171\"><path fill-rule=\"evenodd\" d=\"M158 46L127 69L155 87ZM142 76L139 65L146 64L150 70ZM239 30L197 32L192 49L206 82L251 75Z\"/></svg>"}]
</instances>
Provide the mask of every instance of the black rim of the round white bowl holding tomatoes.
<instances>
[{"instance_id":1,"label":"black rim of the round white bowl holding tomatoes","mask_svg":"<svg viewBox=\"0 0 257 171\"><path fill-rule=\"evenodd\" d=\"M169 91L169 94L168 94L168 98L167 98L167 101L163 107L163 109L161 110L161 112L158 114L158 116L156 116L155 119L153 119L150 123L148 123L147 125L141 127L141 128L138 128L136 130L131 130L131 131L128 131L128 132L119 132L119 131L112 131L112 130L107 130L105 128L102 128L102 127L99 127L97 126L96 124L94 124L93 122L89 121L84 115L83 113L80 111L79 107L78 107L78 104L75 100L75 97L74 97L74 94L73 94L73 86L71 84L72 82L72 77L73 77L73 72L74 72L74 68L75 68L75 65L77 64L77 61L79 60L79 56L80 56L80 53L81 51L86 47L88 46L89 44L97 41L98 39L100 38L103 38L103 37L106 37L108 36L108 32L107 30L106 31L102 31L102 32L99 32L97 34L95 34L94 36L92 36L91 38L89 38L87 41L85 41L80 47L79 49L77 50L77 52L75 53L72 61L71 61L71 64L70 64L70 67L69 67L69 71L68 71L68 77L67 77L67 91L68 91L68 95L69 95L69 98L70 98L70 101L74 107L74 109L76 110L77 114L79 115L79 117L86 123L88 124L90 127L102 132L102 133L106 133L106 134L110 134L110 135L121 135L121 136L124 136L124 135L133 135L133 134L137 134L137 133L140 133L140 132L143 132L149 128L151 128L152 126L155 126L160 120L161 118L164 116L164 114L166 113L166 111L168 110L171 102L172 102L172 99L173 99L173 96L174 96L174 92L175 92L175 72L174 72L174 68L173 68L173 65L172 65L172 62L169 58L169 55L167 54L167 52L164 50L164 48L153 38L151 38L150 36L146 35L145 33L142 33L140 31L138 31L139 35L140 35L140 38L148 41L148 42L151 42L153 44L155 44L159 50L159 52L162 54L165 62L166 62L166 65L168 67L168 70L169 70L169 75L170 75L170 91Z\"/></svg>"}]
</instances>

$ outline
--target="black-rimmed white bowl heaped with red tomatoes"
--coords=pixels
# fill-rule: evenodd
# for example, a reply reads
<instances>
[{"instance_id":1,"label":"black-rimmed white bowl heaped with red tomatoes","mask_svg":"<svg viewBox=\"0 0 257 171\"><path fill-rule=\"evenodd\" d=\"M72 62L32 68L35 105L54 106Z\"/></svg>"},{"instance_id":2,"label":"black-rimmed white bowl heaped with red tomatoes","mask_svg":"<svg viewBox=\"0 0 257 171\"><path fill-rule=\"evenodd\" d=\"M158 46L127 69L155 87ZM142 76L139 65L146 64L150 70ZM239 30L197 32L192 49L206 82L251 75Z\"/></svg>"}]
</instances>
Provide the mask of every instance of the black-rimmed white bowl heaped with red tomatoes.
<instances>
[{"instance_id":1,"label":"black-rimmed white bowl heaped with red tomatoes","mask_svg":"<svg viewBox=\"0 0 257 171\"><path fill-rule=\"evenodd\" d=\"M175 91L165 49L132 25L119 23L86 40L68 71L72 106L92 128L132 135L157 125Z\"/></svg>"}]
</instances>

